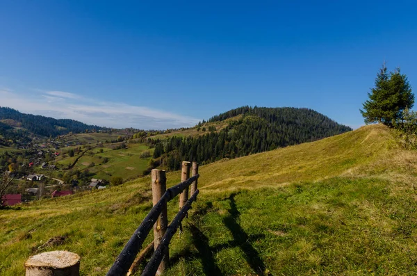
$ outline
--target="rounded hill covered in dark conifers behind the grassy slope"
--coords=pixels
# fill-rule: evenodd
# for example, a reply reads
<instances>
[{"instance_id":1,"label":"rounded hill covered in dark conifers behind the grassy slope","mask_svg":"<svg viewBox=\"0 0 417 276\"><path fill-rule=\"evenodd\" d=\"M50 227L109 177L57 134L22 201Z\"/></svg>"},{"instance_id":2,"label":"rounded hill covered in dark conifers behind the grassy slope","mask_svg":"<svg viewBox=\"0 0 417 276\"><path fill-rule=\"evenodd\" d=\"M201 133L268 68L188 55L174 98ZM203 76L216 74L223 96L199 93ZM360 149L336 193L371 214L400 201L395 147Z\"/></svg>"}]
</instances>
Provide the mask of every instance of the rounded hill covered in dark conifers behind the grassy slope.
<instances>
[{"instance_id":1,"label":"rounded hill covered in dark conifers behind the grassy slope","mask_svg":"<svg viewBox=\"0 0 417 276\"><path fill-rule=\"evenodd\" d=\"M226 127L216 130L216 122L234 117L236 120L230 120ZM206 129L205 125L208 126L208 133L202 136L149 139L149 143L155 144L156 165L177 170L183 160L208 163L311 142L352 130L308 108L250 106L211 117L208 122L198 124L197 130Z\"/></svg>"}]
</instances>

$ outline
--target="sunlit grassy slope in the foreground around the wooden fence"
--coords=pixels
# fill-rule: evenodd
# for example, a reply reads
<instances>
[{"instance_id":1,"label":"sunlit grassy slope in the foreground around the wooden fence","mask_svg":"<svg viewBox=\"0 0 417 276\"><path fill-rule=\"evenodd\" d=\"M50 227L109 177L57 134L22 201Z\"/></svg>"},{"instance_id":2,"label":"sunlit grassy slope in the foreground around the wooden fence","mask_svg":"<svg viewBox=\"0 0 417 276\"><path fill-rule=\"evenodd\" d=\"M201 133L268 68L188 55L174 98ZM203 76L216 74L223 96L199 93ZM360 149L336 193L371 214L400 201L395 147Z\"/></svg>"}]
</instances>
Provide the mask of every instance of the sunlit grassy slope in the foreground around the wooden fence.
<instances>
[{"instance_id":1,"label":"sunlit grassy slope in the foreground around the wooden fence","mask_svg":"<svg viewBox=\"0 0 417 276\"><path fill-rule=\"evenodd\" d=\"M389 130L370 126L202 166L167 275L414 275L417 156L390 147ZM149 181L0 211L0 275L57 249L104 275L152 205ZM168 208L173 218L177 201ZM63 245L40 247L58 235Z\"/></svg>"}]
</instances>

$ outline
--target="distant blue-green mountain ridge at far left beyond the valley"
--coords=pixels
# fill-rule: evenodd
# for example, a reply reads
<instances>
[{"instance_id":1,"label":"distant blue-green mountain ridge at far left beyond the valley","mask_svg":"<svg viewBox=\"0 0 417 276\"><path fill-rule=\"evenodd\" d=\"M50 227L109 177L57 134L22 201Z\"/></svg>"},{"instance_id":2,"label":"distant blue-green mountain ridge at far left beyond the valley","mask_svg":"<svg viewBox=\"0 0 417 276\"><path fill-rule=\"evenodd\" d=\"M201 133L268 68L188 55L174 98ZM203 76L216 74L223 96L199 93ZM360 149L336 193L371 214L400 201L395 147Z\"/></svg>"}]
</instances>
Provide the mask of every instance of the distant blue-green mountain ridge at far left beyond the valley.
<instances>
[{"instance_id":1,"label":"distant blue-green mountain ridge at far left beyond the valley","mask_svg":"<svg viewBox=\"0 0 417 276\"><path fill-rule=\"evenodd\" d=\"M86 129L103 128L76 120L20 113L13 108L0 106L0 136L3 136L3 143L4 140L24 142L31 140L31 136L54 137L70 132L80 133Z\"/></svg>"}]
</instances>

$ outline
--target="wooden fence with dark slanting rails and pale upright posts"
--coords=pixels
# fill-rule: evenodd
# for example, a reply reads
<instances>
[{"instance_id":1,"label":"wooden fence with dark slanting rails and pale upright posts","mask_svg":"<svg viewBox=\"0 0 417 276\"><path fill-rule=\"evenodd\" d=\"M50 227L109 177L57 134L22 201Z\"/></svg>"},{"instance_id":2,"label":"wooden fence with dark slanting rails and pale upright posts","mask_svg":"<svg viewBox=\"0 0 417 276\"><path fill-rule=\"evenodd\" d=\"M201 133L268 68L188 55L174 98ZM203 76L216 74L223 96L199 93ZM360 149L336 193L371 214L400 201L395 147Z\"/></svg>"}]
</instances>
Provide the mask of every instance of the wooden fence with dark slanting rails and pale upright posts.
<instances>
[{"instance_id":1,"label":"wooden fence with dark slanting rails and pale upright posts","mask_svg":"<svg viewBox=\"0 0 417 276\"><path fill-rule=\"evenodd\" d=\"M154 227L154 246L155 252L151 258L151 261L145 267L142 275L155 275L158 271L162 273L169 260L168 245L172 236L177 231L181 220L186 216L187 211L190 209L191 204L197 200L199 190L197 190L197 179L199 178L198 163L193 164L193 177L190 176L190 162L183 162L181 170L181 183L165 190L166 177L165 170L152 170L152 194L154 199L154 206L148 215L142 221L138 229L133 233L129 241L124 246L119 257L113 263L113 266L108 271L106 276L121 276L126 275L131 267L136 255L140 251L140 247L145 242L152 227ZM188 187L193 184L192 190L195 192L188 200ZM159 189L159 190L158 190ZM157 193L164 191L161 198L155 202ZM167 202L181 193L179 199L179 213L175 216L169 227L167 225ZM162 213L162 215L161 215ZM156 223L157 222L157 223ZM163 261L165 256L165 260ZM162 263L161 263L162 262ZM161 264L161 265L160 265Z\"/></svg>"}]
</instances>

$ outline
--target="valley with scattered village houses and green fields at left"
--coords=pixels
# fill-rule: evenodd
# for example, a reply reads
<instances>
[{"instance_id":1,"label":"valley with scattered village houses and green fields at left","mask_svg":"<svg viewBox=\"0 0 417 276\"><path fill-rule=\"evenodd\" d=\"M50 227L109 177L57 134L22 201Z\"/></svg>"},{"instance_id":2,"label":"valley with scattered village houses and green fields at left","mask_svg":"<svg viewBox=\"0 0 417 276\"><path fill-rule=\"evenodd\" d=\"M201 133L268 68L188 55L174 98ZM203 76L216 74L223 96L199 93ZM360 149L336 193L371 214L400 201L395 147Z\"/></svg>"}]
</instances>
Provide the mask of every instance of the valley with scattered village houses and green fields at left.
<instances>
[{"instance_id":1,"label":"valley with scattered village houses and green fields at left","mask_svg":"<svg viewBox=\"0 0 417 276\"><path fill-rule=\"evenodd\" d=\"M83 162L82 158L85 155L85 159L88 159L95 154L113 150L126 151L128 146L125 143L131 138L130 132L131 130L90 131L49 139L33 138L31 143L20 144L17 149L9 147L8 149L12 149L10 152L3 150L0 152L0 165L4 165L5 173L12 181L6 195L3 195L3 205L13 206L22 202L72 195L83 190L106 188L111 184L112 174L107 172L102 178L96 177L97 174L92 169L95 165L92 166L88 161ZM97 150L93 152L93 149ZM111 154L113 152L108 155ZM121 153L116 155L119 154ZM102 163L109 163L111 157L97 156L97 159L101 159ZM110 167L102 163L97 165L103 166L102 168ZM142 173L140 170L137 172L138 175ZM123 179L116 177L115 181L121 184Z\"/></svg>"}]
</instances>

